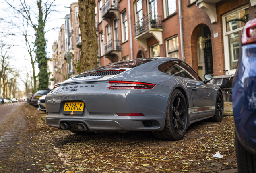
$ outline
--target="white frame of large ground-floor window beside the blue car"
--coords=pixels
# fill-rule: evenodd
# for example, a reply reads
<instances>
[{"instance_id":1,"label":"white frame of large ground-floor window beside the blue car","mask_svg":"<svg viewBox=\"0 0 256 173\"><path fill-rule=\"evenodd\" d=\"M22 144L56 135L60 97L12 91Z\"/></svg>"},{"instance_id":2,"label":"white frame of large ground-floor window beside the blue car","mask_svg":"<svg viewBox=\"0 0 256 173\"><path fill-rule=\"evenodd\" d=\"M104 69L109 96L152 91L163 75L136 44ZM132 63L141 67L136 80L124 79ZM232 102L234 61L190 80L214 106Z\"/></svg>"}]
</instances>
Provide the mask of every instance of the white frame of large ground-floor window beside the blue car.
<instances>
[{"instance_id":1,"label":"white frame of large ground-floor window beside the blue car","mask_svg":"<svg viewBox=\"0 0 256 173\"><path fill-rule=\"evenodd\" d=\"M235 10L232 10L231 12L226 13L225 15L222 16L222 28L223 28L223 45L224 45L224 59L225 59L225 70L229 70L229 74L235 74L236 69L230 70L230 62L229 62L229 45L228 45L228 39L227 39L227 35L234 33L234 32L238 32L243 30L244 27L242 28L237 28L235 30L226 32L227 28L226 28L226 17L229 16L230 14L233 14L235 12L239 12L241 10L244 10L246 8L248 8L249 5L245 5L245 6L241 6ZM227 74L227 72L226 72Z\"/></svg>"}]
</instances>

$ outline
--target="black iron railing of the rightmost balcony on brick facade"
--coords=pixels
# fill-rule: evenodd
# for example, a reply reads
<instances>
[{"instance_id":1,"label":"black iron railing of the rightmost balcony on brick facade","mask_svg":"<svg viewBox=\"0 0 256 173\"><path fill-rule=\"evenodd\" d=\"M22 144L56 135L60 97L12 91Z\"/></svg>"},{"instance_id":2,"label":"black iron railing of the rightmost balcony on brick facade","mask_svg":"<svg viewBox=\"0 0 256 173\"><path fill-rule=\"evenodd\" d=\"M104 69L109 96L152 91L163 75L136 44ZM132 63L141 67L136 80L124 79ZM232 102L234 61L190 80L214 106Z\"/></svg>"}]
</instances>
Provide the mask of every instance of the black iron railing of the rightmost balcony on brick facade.
<instances>
[{"instance_id":1,"label":"black iron railing of the rightmost balcony on brick facade","mask_svg":"<svg viewBox=\"0 0 256 173\"><path fill-rule=\"evenodd\" d=\"M149 30L149 28L162 28L162 16L151 15L150 13L144 16L141 20L134 23L135 25L135 36L142 34Z\"/></svg>"}]
</instances>

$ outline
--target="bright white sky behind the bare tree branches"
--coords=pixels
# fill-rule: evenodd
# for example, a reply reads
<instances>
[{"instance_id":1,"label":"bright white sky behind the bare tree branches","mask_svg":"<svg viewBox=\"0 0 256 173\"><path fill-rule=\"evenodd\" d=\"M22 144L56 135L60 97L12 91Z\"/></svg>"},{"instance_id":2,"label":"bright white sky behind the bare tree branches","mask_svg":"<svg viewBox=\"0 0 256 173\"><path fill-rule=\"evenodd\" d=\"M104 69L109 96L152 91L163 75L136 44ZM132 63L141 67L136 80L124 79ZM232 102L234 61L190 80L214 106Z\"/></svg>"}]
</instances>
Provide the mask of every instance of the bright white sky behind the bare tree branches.
<instances>
[{"instance_id":1,"label":"bright white sky behind the bare tree branches","mask_svg":"<svg viewBox=\"0 0 256 173\"><path fill-rule=\"evenodd\" d=\"M14 3L19 3L19 0L9 0L12 1ZM43 2L45 2L46 0L42 0ZM52 0L49 0L52 1ZM31 6L35 6L36 0L25 0L25 2L27 4L31 4ZM78 2L78 0L56 0L54 2L54 4L56 5L54 7L54 10L56 10L55 12L52 12L50 14L50 17L48 18L47 22L46 22L46 26L45 26L45 38L47 40L47 58L51 58L52 57L52 44L54 42L55 39L58 40L58 32L59 32L59 28L62 24L65 23L65 20L63 19L65 17L66 14L70 13L70 8L66 8L66 7L70 7L70 5L73 2ZM10 9L8 9L8 5L6 4L6 2L4 2L4 0L0 0L0 11L1 11L1 16L8 19L8 17L10 16ZM35 10L35 12L37 12ZM12 17L13 18L13 17ZM18 20L22 20L21 18L15 20L13 18L14 22ZM0 23L0 28L2 27L3 24ZM53 29L56 28L56 29ZM6 29L8 30L8 28ZM12 32L19 32L19 30L17 28L14 28L12 30ZM31 33L33 34L33 30L31 30ZM4 42L10 44L10 45L14 45L11 48L11 52L10 52L10 56L12 56L12 60L10 61L10 65L19 70L19 74L20 74L20 78L25 78L25 74L27 72L32 72L32 66L31 63L26 60L26 59L30 59L30 56L27 52L27 50L24 48L25 47L25 43L22 41L22 39L24 38L24 36L8 36L8 37L1 37L0 36L0 40L4 40ZM39 72L38 66L36 65L36 74ZM19 81L19 89L20 90L25 90L25 86L24 84Z\"/></svg>"}]
</instances>

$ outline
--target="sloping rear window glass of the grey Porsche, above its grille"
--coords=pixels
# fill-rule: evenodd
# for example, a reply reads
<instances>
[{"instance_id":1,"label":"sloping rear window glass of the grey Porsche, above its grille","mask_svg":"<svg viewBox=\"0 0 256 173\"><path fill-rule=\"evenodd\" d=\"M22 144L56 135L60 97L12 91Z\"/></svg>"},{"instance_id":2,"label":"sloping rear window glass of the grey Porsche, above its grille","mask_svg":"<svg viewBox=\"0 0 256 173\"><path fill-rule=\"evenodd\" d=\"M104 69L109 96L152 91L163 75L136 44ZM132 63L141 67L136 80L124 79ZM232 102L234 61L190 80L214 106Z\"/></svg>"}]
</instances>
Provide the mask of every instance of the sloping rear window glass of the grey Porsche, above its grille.
<instances>
[{"instance_id":1,"label":"sloping rear window glass of the grey Porsche, above its grille","mask_svg":"<svg viewBox=\"0 0 256 173\"><path fill-rule=\"evenodd\" d=\"M89 71L100 70L101 68L104 68L104 69L111 69L111 68L134 68L134 67L140 66L142 64L145 64L147 62L156 60L156 59L157 58L143 58L143 59L133 59L133 60L114 62L112 64L108 64L108 65L105 65L105 66L100 66L100 67L97 67L97 68L93 68L92 70L89 70Z\"/></svg>"}]
</instances>

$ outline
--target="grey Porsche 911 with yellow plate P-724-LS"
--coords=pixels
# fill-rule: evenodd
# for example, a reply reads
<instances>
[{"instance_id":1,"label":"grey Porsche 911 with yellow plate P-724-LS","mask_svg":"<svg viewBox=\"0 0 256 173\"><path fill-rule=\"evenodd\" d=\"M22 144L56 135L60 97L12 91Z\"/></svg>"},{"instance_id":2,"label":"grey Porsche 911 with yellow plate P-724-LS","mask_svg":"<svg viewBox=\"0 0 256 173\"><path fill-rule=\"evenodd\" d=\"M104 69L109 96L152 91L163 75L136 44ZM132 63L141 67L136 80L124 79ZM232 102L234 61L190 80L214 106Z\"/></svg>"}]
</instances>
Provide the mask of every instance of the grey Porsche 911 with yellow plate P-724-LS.
<instances>
[{"instance_id":1,"label":"grey Porsche 911 with yellow plate P-724-LS","mask_svg":"<svg viewBox=\"0 0 256 173\"><path fill-rule=\"evenodd\" d=\"M76 134L153 131L180 140L196 121L223 118L221 89L176 58L115 62L78 74L45 97L46 122Z\"/></svg>"}]
</instances>

